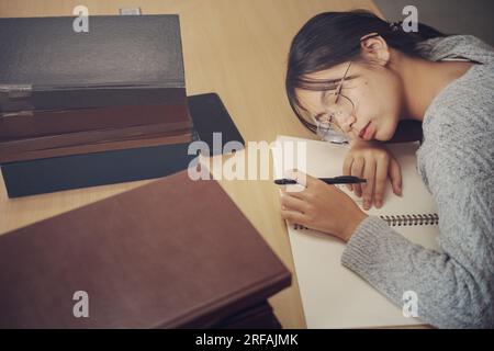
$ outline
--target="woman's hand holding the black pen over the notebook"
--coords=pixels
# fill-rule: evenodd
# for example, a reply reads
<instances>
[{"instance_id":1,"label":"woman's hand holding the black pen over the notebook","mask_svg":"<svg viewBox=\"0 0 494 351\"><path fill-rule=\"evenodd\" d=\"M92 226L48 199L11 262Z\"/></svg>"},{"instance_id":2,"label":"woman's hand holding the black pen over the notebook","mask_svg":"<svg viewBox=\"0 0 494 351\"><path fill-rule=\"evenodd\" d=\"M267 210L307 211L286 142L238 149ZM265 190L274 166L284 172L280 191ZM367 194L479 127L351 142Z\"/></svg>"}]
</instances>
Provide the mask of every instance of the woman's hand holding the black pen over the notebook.
<instances>
[{"instance_id":1,"label":"woman's hand holding the black pen over the notebook","mask_svg":"<svg viewBox=\"0 0 494 351\"><path fill-rule=\"evenodd\" d=\"M336 186L296 171L291 174L291 179L299 182L304 180L305 190L283 190L281 216L288 222L348 241L367 217L359 206Z\"/></svg>"}]
</instances>

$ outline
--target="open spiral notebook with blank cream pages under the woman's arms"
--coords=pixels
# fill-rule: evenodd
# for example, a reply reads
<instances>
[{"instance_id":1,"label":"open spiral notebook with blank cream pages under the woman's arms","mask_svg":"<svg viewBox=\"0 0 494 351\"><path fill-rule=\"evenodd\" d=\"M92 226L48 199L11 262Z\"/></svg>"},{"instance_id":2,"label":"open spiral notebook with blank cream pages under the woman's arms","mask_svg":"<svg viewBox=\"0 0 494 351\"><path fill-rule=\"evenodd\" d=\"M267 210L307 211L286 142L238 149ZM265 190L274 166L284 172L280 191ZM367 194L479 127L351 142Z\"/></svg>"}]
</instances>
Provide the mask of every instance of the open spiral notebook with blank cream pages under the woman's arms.
<instances>
[{"instance_id":1,"label":"open spiral notebook with blank cream pages under the woman's arms","mask_svg":"<svg viewBox=\"0 0 494 351\"><path fill-rule=\"evenodd\" d=\"M384 206L371 208L408 240L427 249L439 250L438 215L433 196L416 168L418 143L396 144L391 151L402 168L403 196L386 186ZM313 177L341 176L348 146L326 141L279 136L272 147L274 177L285 170L306 169ZM306 158L302 156L306 155ZM346 188L340 188L361 205ZM288 225L290 245L307 328L372 328L424 324L403 316L394 305L359 275L340 263L345 245L325 234L302 226Z\"/></svg>"}]
</instances>

